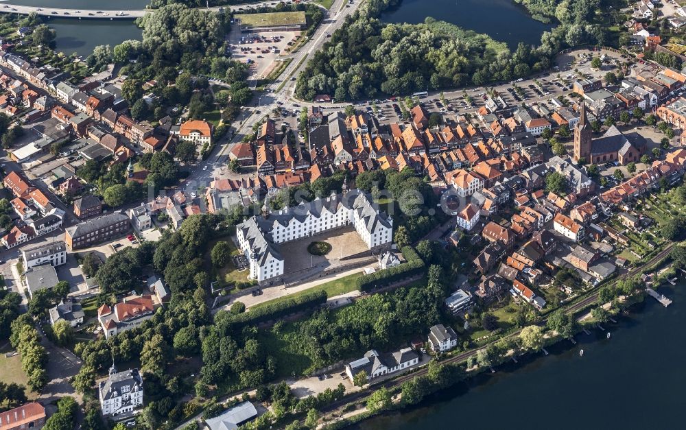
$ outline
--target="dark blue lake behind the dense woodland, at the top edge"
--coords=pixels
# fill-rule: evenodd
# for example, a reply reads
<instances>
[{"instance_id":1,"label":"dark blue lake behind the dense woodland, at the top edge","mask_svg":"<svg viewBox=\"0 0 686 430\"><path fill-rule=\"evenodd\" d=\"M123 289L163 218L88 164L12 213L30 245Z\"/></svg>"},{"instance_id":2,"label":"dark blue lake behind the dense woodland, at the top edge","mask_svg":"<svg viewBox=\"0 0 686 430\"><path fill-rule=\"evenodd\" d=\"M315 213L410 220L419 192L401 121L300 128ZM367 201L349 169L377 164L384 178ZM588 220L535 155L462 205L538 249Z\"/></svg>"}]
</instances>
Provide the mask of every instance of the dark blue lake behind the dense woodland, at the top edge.
<instances>
[{"instance_id":1,"label":"dark blue lake behind the dense woodland, at the top edge","mask_svg":"<svg viewBox=\"0 0 686 430\"><path fill-rule=\"evenodd\" d=\"M521 41L539 45L551 24L531 18L512 0L403 0L381 15L387 23L423 23L427 16L506 42L510 49Z\"/></svg>"}]
</instances>

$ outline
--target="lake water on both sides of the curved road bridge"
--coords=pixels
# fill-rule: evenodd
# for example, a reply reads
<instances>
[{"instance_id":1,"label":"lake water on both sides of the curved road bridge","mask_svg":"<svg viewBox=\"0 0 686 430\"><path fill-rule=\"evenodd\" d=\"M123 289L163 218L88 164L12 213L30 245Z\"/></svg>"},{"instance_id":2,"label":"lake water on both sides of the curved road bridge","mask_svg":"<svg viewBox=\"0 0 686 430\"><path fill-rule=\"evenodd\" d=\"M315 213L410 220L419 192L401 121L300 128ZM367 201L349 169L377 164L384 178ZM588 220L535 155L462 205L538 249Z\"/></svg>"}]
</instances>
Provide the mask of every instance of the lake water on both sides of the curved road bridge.
<instances>
[{"instance_id":1,"label":"lake water on both sides of the curved road bridge","mask_svg":"<svg viewBox=\"0 0 686 430\"><path fill-rule=\"evenodd\" d=\"M0 1L0 7L1 7ZM11 0L18 5L39 7L128 10L144 9L147 0ZM67 54L78 53L84 58L97 45L114 47L128 39L141 39L142 29L133 20L106 21L92 19L49 18L45 20L57 32L56 49Z\"/></svg>"}]
</instances>

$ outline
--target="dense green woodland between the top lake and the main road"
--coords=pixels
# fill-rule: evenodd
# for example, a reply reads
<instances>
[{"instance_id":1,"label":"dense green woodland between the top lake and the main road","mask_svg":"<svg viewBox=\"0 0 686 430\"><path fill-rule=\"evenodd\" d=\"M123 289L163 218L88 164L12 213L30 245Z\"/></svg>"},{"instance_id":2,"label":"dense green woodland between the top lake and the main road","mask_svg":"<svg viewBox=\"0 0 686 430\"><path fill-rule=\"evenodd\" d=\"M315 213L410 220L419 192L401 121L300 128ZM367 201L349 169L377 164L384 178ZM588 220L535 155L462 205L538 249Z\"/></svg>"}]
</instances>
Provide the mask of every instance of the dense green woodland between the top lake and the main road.
<instances>
[{"instance_id":1,"label":"dense green woodland between the top lake and the main road","mask_svg":"<svg viewBox=\"0 0 686 430\"><path fill-rule=\"evenodd\" d=\"M397 3L377 0L360 6L300 73L296 95L312 99L326 93L354 100L482 86L549 69L565 47L606 43L602 18L596 19L599 0L560 2L554 8L559 16L551 15L558 25L543 33L541 44L520 44L514 52L484 34L432 18L417 25L379 21L379 14ZM551 7L541 10L549 14Z\"/></svg>"}]
</instances>

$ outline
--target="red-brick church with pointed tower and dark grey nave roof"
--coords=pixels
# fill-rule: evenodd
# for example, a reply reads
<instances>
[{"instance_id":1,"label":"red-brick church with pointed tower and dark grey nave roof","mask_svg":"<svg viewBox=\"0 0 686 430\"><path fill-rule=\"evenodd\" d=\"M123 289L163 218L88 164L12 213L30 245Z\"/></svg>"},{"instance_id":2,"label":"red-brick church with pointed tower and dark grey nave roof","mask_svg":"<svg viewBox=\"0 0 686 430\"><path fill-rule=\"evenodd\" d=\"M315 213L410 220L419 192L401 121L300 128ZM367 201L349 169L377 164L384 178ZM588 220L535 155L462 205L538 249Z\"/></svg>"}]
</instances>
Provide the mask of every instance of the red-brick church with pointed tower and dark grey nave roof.
<instances>
[{"instance_id":1,"label":"red-brick church with pointed tower and dark grey nave roof","mask_svg":"<svg viewBox=\"0 0 686 430\"><path fill-rule=\"evenodd\" d=\"M624 134L611 126L598 139L591 138L591 124L586 117L586 104L581 103L581 117L574 127L574 161L589 164L638 163L646 152L646 139L636 132Z\"/></svg>"}]
</instances>

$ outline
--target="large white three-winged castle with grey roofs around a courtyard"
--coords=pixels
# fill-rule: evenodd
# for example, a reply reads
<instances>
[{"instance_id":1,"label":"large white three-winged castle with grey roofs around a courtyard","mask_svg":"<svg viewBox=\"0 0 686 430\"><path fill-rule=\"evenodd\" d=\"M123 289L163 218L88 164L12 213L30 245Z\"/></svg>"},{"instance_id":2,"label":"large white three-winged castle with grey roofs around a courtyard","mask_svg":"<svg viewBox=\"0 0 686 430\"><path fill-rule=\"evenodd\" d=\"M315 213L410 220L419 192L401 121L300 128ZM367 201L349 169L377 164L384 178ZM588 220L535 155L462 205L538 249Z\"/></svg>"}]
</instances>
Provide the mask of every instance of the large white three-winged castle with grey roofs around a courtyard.
<instances>
[{"instance_id":1,"label":"large white three-winged castle with grey roofs around a courtyard","mask_svg":"<svg viewBox=\"0 0 686 430\"><path fill-rule=\"evenodd\" d=\"M369 196L353 190L253 216L236 228L238 244L250 261L250 278L258 282L283 275L278 244L353 225L371 250L392 242L393 219L379 212Z\"/></svg>"}]
</instances>

